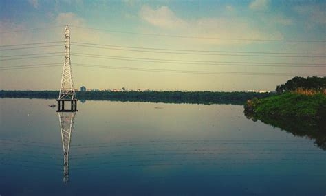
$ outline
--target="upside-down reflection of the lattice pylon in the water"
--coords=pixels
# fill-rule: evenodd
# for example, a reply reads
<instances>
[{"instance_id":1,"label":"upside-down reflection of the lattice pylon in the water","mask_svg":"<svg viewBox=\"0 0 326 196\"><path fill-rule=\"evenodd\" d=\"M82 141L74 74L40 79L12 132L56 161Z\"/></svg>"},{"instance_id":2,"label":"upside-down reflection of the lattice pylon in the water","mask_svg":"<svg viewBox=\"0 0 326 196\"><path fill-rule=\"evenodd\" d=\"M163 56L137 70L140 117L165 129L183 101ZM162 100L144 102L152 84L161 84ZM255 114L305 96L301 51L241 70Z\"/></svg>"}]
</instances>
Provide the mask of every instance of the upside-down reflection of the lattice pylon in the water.
<instances>
[{"instance_id":1,"label":"upside-down reflection of the lattice pylon in the water","mask_svg":"<svg viewBox=\"0 0 326 196\"><path fill-rule=\"evenodd\" d=\"M59 112L61 139L63 142L63 182L67 184L69 178L69 148L74 129L76 112Z\"/></svg>"}]
</instances>

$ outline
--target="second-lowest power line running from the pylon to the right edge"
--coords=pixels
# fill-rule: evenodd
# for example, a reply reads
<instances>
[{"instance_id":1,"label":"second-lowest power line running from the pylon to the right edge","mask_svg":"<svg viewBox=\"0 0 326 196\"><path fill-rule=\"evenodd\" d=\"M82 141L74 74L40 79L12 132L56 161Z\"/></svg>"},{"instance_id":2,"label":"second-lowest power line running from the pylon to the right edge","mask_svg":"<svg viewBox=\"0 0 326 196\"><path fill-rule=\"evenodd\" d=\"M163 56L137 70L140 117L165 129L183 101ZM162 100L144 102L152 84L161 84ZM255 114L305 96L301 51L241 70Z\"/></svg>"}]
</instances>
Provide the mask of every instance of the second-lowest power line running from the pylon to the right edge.
<instances>
[{"instance_id":1,"label":"second-lowest power line running from the pylon to the right edge","mask_svg":"<svg viewBox=\"0 0 326 196\"><path fill-rule=\"evenodd\" d=\"M284 64L257 64L252 62L252 65L247 64L250 62L224 62L224 61L184 61L184 60L172 60L172 59L162 59L162 58L137 58L129 56L105 56L98 54L84 54L84 53L72 53L72 56L82 56L90 58L105 58L121 61L140 61L140 62L149 62L149 63L172 63L172 64L186 64L186 65L222 65L222 66L261 66L261 67L326 67L325 64L320 65L287 65ZM221 64L222 63L222 64ZM225 64L228 63L228 64ZM230 64L231 63L231 64ZM246 63L243 65L243 63Z\"/></svg>"}]
</instances>

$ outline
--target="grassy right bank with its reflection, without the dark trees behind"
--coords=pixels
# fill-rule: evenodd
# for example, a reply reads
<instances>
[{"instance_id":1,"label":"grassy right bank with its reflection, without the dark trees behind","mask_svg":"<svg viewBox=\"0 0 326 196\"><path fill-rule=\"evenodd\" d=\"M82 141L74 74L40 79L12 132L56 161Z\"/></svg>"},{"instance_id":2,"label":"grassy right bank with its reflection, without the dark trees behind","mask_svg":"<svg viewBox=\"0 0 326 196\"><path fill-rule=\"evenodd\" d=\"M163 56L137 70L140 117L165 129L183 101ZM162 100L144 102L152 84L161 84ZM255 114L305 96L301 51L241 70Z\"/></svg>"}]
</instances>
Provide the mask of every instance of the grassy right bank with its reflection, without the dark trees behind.
<instances>
[{"instance_id":1,"label":"grassy right bank with its reflection, without the dark trees behind","mask_svg":"<svg viewBox=\"0 0 326 196\"><path fill-rule=\"evenodd\" d=\"M273 127L314 139L314 144L326 150L326 96L288 92L263 99L248 100L245 116Z\"/></svg>"}]
</instances>

